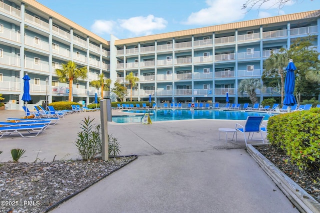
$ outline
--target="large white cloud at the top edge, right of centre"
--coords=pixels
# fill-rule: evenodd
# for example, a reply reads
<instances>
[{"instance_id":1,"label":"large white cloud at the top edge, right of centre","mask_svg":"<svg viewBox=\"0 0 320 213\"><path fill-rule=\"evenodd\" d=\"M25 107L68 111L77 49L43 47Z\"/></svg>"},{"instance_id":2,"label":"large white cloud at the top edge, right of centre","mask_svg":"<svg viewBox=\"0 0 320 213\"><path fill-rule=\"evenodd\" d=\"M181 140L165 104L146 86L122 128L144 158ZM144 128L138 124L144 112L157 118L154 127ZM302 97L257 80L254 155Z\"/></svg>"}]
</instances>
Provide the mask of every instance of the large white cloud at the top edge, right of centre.
<instances>
[{"instance_id":1,"label":"large white cloud at the top edge, right of centre","mask_svg":"<svg viewBox=\"0 0 320 213\"><path fill-rule=\"evenodd\" d=\"M206 0L208 7L192 12L183 24L219 24L244 17L241 5L246 0Z\"/></svg>"}]
</instances>

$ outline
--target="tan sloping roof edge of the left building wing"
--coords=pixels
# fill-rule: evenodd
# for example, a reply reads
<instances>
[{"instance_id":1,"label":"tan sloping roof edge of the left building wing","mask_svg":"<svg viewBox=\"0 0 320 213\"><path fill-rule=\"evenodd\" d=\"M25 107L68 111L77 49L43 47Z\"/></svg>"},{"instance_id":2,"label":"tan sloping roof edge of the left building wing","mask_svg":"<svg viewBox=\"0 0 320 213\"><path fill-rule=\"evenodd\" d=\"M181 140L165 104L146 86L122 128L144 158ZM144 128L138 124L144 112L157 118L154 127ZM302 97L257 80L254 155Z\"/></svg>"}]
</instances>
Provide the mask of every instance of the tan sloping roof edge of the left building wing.
<instances>
[{"instance_id":1,"label":"tan sloping roof edge of the left building wing","mask_svg":"<svg viewBox=\"0 0 320 213\"><path fill-rule=\"evenodd\" d=\"M103 43L106 45L110 45L109 41L101 38L100 36L94 34L93 32L85 29L84 27L76 24L75 22L71 21L70 19L64 17L63 15L53 11L52 9L44 6L43 4L40 4L39 2L37 2L36 0L21 0L21 2L25 3L25 5L31 6L36 8L37 10L47 14L49 17L52 17L55 20L59 20L62 23L64 23L65 25L68 25L70 28L76 29L86 35L88 35L89 37Z\"/></svg>"}]
</instances>

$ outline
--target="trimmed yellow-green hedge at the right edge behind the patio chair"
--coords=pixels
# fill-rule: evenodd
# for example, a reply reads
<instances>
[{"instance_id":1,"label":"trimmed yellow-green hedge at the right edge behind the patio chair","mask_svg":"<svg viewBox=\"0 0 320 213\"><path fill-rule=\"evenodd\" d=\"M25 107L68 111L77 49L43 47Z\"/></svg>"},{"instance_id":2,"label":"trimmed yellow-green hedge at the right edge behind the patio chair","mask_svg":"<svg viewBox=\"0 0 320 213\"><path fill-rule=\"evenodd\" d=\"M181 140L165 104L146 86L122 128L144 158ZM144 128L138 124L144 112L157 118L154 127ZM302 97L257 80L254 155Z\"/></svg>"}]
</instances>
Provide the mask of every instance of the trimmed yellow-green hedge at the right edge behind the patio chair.
<instances>
[{"instance_id":1,"label":"trimmed yellow-green hedge at the right edge behind the patio chair","mask_svg":"<svg viewBox=\"0 0 320 213\"><path fill-rule=\"evenodd\" d=\"M282 149L299 169L320 170L320 108L272 116L267 139Z\"/></svg>"}]
</instances>

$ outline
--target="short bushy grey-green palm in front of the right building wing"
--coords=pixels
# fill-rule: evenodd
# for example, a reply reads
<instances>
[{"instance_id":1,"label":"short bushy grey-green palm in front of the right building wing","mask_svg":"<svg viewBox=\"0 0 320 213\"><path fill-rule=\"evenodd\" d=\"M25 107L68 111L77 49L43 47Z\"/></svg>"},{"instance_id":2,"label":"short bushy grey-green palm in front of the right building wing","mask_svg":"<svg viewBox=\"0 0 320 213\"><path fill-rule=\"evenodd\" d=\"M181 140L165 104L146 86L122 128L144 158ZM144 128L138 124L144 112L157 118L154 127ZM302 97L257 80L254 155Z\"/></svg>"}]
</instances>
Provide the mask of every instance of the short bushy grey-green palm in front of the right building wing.
<instances>
[{"instance_id":1,"label":"short bushy grey-green palm in front of the right building wing","mask_svg":"<svg viewBox=\"0 0 320 213\"><path fill-rule=\"evenodd\" d=\"M249 95L251 103L255 104L257 102L255 90L261 88L262 84L259 78L247 78L239 82L238 93L240 95L243 95L243 93L247 93Z\"/></svg>"}]
</instances>

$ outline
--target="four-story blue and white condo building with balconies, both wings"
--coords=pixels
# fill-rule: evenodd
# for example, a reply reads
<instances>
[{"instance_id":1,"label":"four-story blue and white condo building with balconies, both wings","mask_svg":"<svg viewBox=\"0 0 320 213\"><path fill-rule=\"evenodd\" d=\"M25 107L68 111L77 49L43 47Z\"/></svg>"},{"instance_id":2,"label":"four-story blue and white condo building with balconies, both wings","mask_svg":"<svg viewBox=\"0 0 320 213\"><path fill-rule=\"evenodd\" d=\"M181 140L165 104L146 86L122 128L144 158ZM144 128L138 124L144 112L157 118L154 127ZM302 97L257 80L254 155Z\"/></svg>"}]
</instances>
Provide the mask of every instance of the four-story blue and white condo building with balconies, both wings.
<instances>
[{"instance_id":1,"label":"four-story blue and white condo building with balconies, both wings","mask_svg":"<svg viewBox=\"0 0 320 213\"><path fill-rule=\"evenodd\" d=\"M320 10L221 24L176 32L106 41L34 0L0 1L0 93L6 108L20 109L21 88L29 75L33 104L67 100L68 84L54 72L61 63L87 66L88 79L74 82L73 101L87 104L100 93L89 82L104 73L125 82L139 78L134 100L149 95L162 102L241 103L244 78L261 78L263 60L299 37L315 35L320 46ZM47 79L47 80L46 80ZM48 84L48 85L47 85ZM129 91L128 96L129 97ZM257 91L259 101L279 97L274 88ZM109 93L105 94L109 97ZM247 98L247 97L246 97Z\"/></svg>"}]
</instances>

